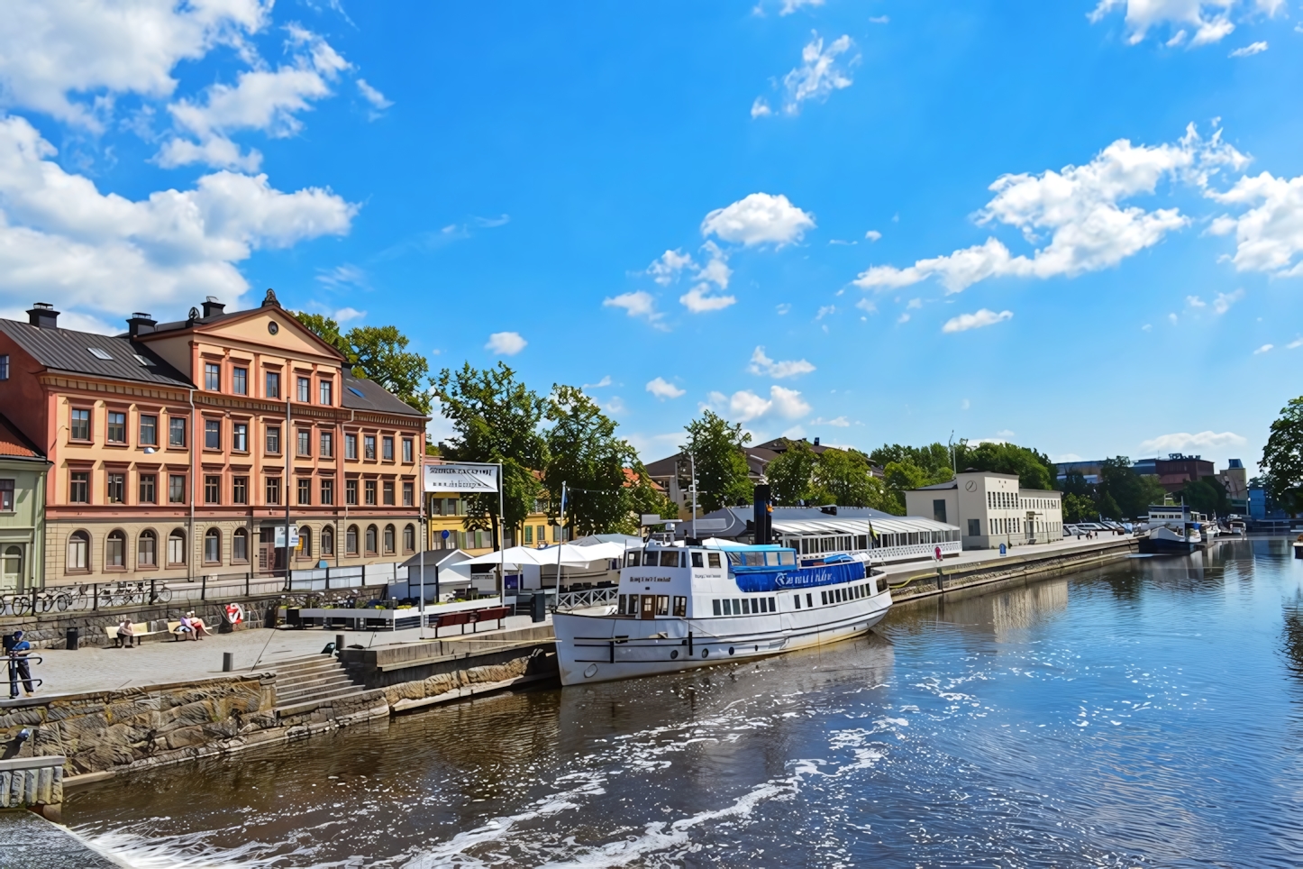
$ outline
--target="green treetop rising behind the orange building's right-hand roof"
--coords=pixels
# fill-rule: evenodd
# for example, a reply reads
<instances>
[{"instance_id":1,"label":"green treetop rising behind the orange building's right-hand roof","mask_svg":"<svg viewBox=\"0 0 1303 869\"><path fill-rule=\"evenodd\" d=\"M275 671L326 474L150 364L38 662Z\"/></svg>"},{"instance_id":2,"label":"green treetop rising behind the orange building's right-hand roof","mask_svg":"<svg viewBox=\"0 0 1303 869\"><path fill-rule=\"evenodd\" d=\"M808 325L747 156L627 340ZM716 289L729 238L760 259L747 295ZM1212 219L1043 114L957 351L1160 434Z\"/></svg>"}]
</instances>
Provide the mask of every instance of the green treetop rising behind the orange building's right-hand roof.
<instances>
[{"instance_id":1,"label":"green treetop rising behind the orange building's right-hand roof","mask_svg":"<svg viewBox=\"0 0 1303 869\"><path fill-rule=\"evenodd\" d=\"M407 350L408 337L397 326L356 326L347 335L324 314L294 311L294 318L319 339L337 349L353 377L375 380L421 413L430 413L426 378L430 363L420 353Z\"/></svg>"}]
</instances>

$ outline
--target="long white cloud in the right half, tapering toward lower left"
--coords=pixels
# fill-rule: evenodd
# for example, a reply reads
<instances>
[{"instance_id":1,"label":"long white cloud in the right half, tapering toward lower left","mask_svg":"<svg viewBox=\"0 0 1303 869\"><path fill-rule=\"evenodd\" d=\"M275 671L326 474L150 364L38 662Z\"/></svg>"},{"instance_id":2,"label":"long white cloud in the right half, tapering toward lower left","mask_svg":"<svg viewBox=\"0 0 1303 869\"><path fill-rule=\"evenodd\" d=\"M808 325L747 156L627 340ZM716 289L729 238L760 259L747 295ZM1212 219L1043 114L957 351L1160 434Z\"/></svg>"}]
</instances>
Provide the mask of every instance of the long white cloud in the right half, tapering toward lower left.
<instances>
[{"instance_id":1,"label":"long white cloud in the right half, tapering toward lower left","mask_svg":"<svg viewBox=\"0 0 1303 869\"><path fill-rule=\"evenodd\" d=\"M1123 206L1124 201L1152 194L1164 178L1203 188L1222 167L1238 168L1246 162L1244 155L1221 141L1220 130L1205 141L1194 125L1175 145L1135 146L1118 139L1085 165L1006 175L990 185L995 197L979 212L977 223L1015 227L1031 244L1049 233L1049 244L1031 258L1012 255L992 237L906 268L873 266L855 284L891 289L936 276L947 293L958 293L988 278L1072 278L1109 268L1190 223L1177 208L1145 211Z\"/></svg>"}]
</instances>

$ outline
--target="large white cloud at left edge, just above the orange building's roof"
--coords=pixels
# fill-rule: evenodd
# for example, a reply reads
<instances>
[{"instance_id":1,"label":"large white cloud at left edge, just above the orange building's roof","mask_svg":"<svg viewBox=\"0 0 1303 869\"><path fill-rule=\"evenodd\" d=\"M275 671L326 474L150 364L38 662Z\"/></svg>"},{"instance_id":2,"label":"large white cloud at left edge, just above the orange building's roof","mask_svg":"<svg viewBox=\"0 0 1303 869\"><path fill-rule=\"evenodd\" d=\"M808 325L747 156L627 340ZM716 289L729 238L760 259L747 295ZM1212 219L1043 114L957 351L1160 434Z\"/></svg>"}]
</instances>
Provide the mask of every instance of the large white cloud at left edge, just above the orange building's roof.
<instances>
[{"instance_id":1,"label":"large white cloud at left edge, just above the orange building's roof","mask_svg":"<svg viewBox=\"0 0 1303 869\"><path fill-rule=\"evenodd\" d=\"M349 231L357 206L330 190L283 193L266 176L215 172L133 201L65 172L21 117L0 119L0 304L44 297L121 313L248 288L235 263Z\"/></svg>"}]
</instances>

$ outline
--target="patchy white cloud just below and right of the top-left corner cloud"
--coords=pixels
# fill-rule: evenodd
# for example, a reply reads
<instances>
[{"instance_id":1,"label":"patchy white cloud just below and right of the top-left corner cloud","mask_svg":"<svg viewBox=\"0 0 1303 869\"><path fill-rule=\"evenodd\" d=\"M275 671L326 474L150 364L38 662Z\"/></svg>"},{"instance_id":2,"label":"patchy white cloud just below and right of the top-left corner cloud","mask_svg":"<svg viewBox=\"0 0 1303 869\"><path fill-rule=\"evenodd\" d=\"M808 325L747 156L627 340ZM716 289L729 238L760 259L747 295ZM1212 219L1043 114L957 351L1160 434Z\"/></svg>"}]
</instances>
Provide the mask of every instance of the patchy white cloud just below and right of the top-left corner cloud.
<instances>
[{"instance_id":1,"label":"patchy white cloud just below and right of the top-left corner cloud","mask_svg":"<svg viewBox=\"0 0 1303 869\"><path fill-rule=\"evenodd\" d=\"M231 133L251 129L287 138L302 129L296 113L310 109L311 100L330 96L331 82L349 69L349 64L324 39L302 27L291 26L289 38L294 47L291 64L276 70L242 72L233 86L211 85L201 102L181 99L168 106L176 125L198 141L169 139L159 151L159 164L176 167L202 162L255 169L262 156L257 151L240 154Z\"/></svg>"}]
</instances>

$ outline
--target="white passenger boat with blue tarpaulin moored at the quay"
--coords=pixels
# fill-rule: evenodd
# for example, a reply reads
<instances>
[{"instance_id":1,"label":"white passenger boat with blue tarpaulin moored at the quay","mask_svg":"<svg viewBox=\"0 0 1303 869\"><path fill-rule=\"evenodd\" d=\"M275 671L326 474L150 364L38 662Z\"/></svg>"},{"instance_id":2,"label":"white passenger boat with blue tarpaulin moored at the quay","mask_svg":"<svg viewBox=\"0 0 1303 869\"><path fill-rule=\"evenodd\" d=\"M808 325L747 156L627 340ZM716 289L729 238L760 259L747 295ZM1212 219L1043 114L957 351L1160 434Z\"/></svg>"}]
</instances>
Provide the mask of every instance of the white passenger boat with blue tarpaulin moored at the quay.
<instances>
[{"instance_id":1,"label":"white passenger boat with blue tarpaulin moored at the quay","mask_svg":"<svg viewBox=\"0 0 1303 869\"><path fill-rule=\"evenodd\" d=\"M777 545L649 542L625 554L615 607L556 612L552 627L562 684L576 685L817 646L890 607L886 580L846 554L797 563Z\"/></svg>"}]
</instances>

